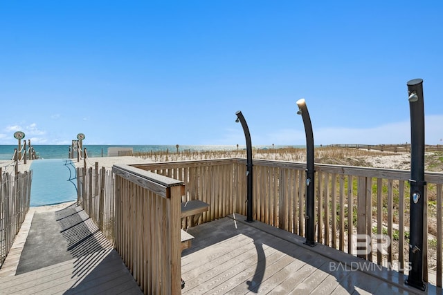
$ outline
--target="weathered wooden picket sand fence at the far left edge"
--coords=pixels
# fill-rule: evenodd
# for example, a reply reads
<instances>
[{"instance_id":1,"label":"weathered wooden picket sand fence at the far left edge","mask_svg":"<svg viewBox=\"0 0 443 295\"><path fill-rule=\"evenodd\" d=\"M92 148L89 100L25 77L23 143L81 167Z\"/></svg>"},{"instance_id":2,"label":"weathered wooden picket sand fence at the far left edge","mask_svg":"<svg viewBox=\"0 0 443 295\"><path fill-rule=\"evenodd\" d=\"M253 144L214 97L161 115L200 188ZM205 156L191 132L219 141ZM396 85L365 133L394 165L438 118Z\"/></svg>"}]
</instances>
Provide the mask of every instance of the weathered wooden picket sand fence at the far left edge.
<instances>
[{"instance_id":1,"label":"weathered wooden picket sand fence at the far left edge","mask_svg":"<svg viewBox=\"0 0 443 295\"><path fill-rule=\"evenodd\" d=\"M0 266L29 210L32 171L0 173Z\"/></svg>"}]
</instances>

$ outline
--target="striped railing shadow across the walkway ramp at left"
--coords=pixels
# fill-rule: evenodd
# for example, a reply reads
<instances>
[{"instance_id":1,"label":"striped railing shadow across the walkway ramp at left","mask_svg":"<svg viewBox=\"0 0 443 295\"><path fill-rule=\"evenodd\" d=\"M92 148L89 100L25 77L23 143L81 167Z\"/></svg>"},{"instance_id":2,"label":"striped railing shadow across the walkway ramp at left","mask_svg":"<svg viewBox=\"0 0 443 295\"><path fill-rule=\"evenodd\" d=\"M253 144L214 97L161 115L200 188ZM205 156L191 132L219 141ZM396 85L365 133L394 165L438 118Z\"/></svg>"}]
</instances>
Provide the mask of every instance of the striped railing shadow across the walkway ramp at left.
<instances>
[{"instance_id":1,"label":"striped railing shadow across the walkway ramp at left","mask_svg":"<svg viewBox=\"0 0 443 295\"><path fill-rule=\"evenodd\" d=\"M64 294L140 294L118 252L77 204L55 212L60 233L73 258L69 289Z\"/></svg>"}]
</instances>

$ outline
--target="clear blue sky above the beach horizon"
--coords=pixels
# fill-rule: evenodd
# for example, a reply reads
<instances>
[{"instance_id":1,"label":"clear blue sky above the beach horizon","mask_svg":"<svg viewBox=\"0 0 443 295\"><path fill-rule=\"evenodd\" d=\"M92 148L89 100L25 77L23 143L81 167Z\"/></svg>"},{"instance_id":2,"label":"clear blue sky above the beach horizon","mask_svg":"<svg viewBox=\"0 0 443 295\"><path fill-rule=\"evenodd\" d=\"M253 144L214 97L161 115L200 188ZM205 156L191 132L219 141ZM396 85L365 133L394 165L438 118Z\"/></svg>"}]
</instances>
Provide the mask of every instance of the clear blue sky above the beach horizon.
<instances>
[{"instance_id":1,"label":"clear blue sky above the beach horizon","mask_svg":"<svg viewBox=\"0 0 443 295\"><path fill-rule=\"evenodd\" d=\"M1 1L0 144L443 144L441 1Z\"/></svg>"}]
</instances>

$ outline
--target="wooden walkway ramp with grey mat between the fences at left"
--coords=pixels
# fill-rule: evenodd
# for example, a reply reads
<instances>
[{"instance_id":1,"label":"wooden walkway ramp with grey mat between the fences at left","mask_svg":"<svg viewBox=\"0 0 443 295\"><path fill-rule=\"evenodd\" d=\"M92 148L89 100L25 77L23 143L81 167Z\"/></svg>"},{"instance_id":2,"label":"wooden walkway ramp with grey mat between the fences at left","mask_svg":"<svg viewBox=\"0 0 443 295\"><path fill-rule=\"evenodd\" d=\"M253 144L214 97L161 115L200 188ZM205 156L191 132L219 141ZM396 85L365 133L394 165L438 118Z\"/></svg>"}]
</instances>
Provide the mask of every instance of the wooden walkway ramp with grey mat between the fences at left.
<instances>
[{"instance_id":1,"label":"wooden walkway ramp with grey mat between the fences at left","mask_svg":"<svg viewBox=\"0 0 443 295\"><path fill-rule=\"evenodd\" d=\"M0 294L142 294L81 207L30 210L0 269Z\"/></svg>"}]
</instances>

